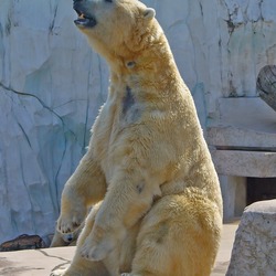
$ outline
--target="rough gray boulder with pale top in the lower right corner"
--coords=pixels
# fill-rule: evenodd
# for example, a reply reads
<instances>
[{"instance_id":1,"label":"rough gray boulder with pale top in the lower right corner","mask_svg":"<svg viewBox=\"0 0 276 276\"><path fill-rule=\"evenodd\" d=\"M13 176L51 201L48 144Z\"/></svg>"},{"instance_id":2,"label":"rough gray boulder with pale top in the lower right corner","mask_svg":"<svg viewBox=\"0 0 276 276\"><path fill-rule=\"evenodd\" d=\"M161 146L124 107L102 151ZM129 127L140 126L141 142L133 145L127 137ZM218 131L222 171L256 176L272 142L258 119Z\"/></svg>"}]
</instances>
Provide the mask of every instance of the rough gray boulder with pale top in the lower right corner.
<instances>
[{"instance_id":1,"label":"rough gray boulder with pale top in the lower right corner","mask_svg":"<svg viewBox=\"0 0 276 276\"><path fill-rule=\"evenodd\" d=\"M276 275L276 200L247 206L236 231L226 276Z\"/></svg>"}]
</instances>

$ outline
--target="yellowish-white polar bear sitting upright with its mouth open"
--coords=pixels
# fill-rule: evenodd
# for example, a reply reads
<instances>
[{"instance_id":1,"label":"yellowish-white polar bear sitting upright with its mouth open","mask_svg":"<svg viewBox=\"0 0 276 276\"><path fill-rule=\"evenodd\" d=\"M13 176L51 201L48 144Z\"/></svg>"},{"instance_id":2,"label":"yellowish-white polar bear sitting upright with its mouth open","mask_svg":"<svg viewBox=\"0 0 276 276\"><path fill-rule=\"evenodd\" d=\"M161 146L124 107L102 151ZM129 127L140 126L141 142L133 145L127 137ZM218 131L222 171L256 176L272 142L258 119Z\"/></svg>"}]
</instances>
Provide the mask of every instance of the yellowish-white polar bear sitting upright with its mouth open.
<instances>
[{"instance_id":1,"label":"yellowish-white polar bear sitting upright with its mouth open","mask_svg":"<svg viewBox=\"0 0 276 276\"><path fill-rule=\"evenodd\" d=\"M95 205L71 266L52 275L210 275L220 184L155 10L137 0L75 0L74 9L108 62L110 87L64 187L59 231L73 232Z\"/></svg>"}]
</instances>

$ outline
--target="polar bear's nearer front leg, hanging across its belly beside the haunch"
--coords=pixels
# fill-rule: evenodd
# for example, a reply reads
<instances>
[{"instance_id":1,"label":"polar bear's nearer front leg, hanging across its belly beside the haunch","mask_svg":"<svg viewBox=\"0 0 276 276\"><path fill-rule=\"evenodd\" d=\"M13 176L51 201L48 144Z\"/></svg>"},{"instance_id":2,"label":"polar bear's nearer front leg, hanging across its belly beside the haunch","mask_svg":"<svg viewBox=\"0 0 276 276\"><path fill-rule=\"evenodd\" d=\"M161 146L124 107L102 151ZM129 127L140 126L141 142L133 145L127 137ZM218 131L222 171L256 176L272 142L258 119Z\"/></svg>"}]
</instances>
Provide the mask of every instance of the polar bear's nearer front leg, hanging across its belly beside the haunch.
<instances>
[{"instance_id":1,"label":"polar bear's nearer front leg, hanging across its belly beside the haunch","mask_svg":"<svg viewBox=\"0 0 276 276\"><path fill-rule=\"evenodd\" d=\"M106 258L124 241L126 232L150 209L155 192L140 176L121 172L113 180L81 254L93 261Z\"/></svg>"}]
</instances>

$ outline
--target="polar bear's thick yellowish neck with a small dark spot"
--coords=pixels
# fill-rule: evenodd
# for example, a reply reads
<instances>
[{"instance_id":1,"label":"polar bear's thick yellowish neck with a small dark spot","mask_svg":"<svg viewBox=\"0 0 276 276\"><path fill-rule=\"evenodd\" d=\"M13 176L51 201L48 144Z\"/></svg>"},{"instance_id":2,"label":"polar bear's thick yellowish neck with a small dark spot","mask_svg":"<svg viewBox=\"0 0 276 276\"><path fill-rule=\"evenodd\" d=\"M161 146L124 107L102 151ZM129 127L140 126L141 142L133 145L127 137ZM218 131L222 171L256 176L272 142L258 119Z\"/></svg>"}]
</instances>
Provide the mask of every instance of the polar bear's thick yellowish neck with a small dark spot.
<instances>
[{"instance_id":1,"label":"polar bear's thick yellowish neck with a small dark spot","mask_svg":"<svg viewBox=\"0 0 276 276\"><path fill-rule=\"evenodd\" d=\"M171 83L179 83L176 78L181 78L164 35L141 51L112 55L107 63L112 82L125 83L130 87L147 83L159 89L159 86L163 88Z\"/></svg>"}]
</instances>

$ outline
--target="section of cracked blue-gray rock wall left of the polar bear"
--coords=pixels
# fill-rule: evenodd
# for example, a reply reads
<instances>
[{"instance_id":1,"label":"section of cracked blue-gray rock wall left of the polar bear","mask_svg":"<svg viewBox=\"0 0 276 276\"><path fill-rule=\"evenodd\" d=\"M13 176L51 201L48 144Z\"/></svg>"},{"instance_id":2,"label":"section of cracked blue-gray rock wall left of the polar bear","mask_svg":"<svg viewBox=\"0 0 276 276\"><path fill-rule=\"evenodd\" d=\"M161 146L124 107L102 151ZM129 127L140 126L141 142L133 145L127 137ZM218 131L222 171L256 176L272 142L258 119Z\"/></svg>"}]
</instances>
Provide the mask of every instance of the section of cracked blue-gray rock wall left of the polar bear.
<instances>
[{"instance_id":1,"label":"section of cracked blue-gray rock wall left of the polar bear","mask_svg":"<svg viewBox=\"0 0 276 276\"><path fill-rule=\"evenodd\" d=\"M0 243L54 232L106 97L108 71L74 17L70 1L0 2Z\"/></svg>"}]
</instances>

